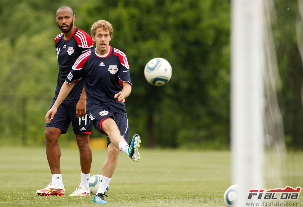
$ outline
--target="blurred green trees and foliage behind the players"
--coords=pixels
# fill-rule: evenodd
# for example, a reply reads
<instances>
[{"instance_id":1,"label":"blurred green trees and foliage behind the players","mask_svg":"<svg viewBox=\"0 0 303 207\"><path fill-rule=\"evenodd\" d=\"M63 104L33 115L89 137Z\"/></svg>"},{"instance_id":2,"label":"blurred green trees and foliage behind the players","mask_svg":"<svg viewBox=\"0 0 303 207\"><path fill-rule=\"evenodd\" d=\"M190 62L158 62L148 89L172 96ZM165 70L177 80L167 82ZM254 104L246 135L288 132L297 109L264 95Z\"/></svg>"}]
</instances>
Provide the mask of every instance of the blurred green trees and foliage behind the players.
<instances>
[{"instance_id":1,"label":"blurred green trees and foliage behind the players","mask_svg":"<svg viewBox=\"0 0 303 207\"><path fill-rule=\"evenodd\" d=\"M287 146L303 148L302 63L295 22L298 2L280 0L273 35ZM26 0L0 2L0 142L44 145L45 113L54 96L61 33L57 8L73 9L76 27L90 34L99 19L112 23L110 44L126 53L132 93L126 100L130 134L145 147L229 148L230 1L228 0ZM286 10L288 8L288 10ZM145 80L152 58L167 59L172 79ZM103 135L102 135L103 136ZM93 131L91 137L100 137ZM61 143L74 140L72 131Z\"/></svg>"}]
</instances>

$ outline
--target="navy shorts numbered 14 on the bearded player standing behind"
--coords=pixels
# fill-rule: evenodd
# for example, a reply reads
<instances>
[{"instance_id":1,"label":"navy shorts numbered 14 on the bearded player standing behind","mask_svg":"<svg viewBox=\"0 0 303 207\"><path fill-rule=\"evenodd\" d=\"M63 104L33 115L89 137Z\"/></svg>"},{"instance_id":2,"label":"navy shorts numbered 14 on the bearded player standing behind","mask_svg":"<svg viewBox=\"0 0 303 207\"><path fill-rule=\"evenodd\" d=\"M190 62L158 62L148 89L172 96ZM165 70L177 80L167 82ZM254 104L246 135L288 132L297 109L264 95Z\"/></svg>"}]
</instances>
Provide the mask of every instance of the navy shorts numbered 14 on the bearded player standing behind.
<instances>
[{"instance_id":1,"label":"navy shorts numbered 14 on the bearded player standing behind","mask_svg":"<svg viewBox=\"0 0 303 207\"><path fill-rule=\"evenodd\" d=\"M53 99L50 108L52 108L56 99ZM46 123L46 127L56 127L61 129L61 134L66 134L70 124L73 126L75 134L91 134L93 124L90 122L88 115L85 117L76 117L76 105L78 99L64 100L58 107L57 113L50 123Z\"/></svg>"}]
</instances>

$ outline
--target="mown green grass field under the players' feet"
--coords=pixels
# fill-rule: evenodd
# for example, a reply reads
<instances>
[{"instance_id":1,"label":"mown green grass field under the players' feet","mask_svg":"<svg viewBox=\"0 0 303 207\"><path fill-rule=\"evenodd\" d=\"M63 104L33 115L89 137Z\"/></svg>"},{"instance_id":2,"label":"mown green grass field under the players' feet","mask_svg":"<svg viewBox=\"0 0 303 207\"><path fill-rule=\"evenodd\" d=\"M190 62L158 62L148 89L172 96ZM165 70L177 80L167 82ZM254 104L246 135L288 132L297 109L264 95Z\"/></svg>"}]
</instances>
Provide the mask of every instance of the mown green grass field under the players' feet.
<instances>
[{"instance_id":1,"label":"mown green grass field under the players' feet","mask_svg":"<svg viewBox=\"0 0 303 207\"><path fill-rule=\"evenodd\" d=\"M108 203L96 204L93 195L68 196L80 183L77 149L61 149L66 194L38 196L36 190L51 182L45 148L0 147L0 206L224 206L231 185L229 151L141 148L140 154L135 163L120 153ZM106 150L93 150L91 175L102 173L105 156ZM303 206L302 198L297 206Z\"/></svg>"}]
</instances>

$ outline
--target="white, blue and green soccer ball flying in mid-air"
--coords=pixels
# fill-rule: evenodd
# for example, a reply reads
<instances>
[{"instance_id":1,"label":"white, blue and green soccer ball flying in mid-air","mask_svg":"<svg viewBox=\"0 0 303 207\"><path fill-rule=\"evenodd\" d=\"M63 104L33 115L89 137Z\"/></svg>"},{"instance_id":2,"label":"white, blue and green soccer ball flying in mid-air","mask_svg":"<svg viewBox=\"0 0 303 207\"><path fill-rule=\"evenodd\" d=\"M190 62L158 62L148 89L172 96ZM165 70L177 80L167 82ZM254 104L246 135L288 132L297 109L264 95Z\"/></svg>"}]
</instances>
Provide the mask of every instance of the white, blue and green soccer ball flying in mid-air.
<instances>
[{"instance_id":1,"label":"white, blue and green soccer ball flying in mid-air","mask_svg":"<svg viewBox=\"0 0 303 207\"><path fill-rule=\"evenodd\" d=\"M145 65L144 76L151 85L164 85L172 77L172 66L163 58L151 59Z\"/></svg>"}]
</instances>

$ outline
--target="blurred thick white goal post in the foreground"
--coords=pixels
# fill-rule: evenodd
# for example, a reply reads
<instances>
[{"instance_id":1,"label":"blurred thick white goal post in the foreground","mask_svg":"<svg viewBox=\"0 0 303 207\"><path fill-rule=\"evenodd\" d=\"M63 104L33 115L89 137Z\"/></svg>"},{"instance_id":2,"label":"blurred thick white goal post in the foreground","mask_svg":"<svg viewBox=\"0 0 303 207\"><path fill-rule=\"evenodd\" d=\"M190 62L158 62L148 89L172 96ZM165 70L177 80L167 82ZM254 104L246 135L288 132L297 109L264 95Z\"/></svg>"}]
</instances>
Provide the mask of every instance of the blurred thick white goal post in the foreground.
<instances>
[{"instance_id":1,"label":"blurred thick white goal post in the foreground","mask_svg":"<svg viewBox=\"0 0 303 207\"><path fill-rule=\"evenodd\" d=\"M245 206L248 189L264 187L264 16L262 0L232 0L232 184L239 185L238 206Z\"/></svg>"}]
</instances>

